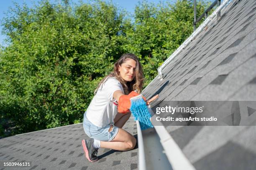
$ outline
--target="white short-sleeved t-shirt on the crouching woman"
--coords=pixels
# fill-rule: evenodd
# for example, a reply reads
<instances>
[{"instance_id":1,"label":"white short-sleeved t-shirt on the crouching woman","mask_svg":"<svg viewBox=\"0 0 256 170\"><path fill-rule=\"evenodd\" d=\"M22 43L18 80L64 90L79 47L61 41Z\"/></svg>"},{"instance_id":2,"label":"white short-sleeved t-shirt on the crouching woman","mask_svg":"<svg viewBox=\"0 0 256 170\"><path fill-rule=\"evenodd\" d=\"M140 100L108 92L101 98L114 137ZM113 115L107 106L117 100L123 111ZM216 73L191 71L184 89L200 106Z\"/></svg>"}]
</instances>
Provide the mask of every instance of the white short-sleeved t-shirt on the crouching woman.
<instances>
[{"instance_id":1,"label":"white short-sleeved t-shirt on the crouching woman","mask_svg":"<svg viewBox=\"0 0 256 170\"><path fill-rule=\"evenodd\" d=\"M115 77L108 77L102 84L86 111L87 119L100 128L114 124L118 110L113 93L116 90L124 92L123 86Z\"/></svg>"}]
</instances>

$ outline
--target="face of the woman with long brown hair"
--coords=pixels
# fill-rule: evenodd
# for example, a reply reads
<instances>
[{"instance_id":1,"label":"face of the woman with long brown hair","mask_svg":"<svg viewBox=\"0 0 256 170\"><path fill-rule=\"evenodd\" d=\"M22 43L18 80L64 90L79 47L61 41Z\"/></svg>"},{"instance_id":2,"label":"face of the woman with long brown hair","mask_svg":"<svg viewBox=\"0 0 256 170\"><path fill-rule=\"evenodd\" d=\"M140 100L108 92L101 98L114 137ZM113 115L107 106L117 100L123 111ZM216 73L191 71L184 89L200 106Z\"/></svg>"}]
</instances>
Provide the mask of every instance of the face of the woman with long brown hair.
<instances>
[{"instance_id":1,"label":"face of the woman with long brown hair","mask_svg":"<svg viewBox=\"0 0 256 170\"><path fill-rule=\"evenodd\" d=\"M135 77L136 61L133 59L127 59L123 64L118 66L120 76L125 81L132 81Z\"/></svg>"}]
</instances>

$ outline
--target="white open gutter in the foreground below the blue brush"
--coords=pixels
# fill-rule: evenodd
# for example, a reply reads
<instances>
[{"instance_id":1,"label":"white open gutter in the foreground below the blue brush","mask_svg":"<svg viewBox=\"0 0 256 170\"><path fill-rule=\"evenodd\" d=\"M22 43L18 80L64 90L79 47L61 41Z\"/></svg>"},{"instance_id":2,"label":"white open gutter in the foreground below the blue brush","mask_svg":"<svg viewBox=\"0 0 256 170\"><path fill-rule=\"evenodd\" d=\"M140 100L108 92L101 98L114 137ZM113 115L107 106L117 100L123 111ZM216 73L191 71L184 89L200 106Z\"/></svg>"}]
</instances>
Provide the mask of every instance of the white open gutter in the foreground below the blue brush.
<instances>
[{"instance_id":1,"label":"white open gutter in the foreground below the blue brush","mask_svg":"<svg viewBox=\"0 0 256 170\"><path fill-rule=\"evenodd\" d=\"M148 105L148 111L152 116L151 119L155 119L156 115L150 107ZM195 170L194 166L189 162L163 125L154 126L154 128L149 128L142 132L138 120L136 120L136 124L138 135L138 170L157 168Z\"/></svg>"}]
</instances>

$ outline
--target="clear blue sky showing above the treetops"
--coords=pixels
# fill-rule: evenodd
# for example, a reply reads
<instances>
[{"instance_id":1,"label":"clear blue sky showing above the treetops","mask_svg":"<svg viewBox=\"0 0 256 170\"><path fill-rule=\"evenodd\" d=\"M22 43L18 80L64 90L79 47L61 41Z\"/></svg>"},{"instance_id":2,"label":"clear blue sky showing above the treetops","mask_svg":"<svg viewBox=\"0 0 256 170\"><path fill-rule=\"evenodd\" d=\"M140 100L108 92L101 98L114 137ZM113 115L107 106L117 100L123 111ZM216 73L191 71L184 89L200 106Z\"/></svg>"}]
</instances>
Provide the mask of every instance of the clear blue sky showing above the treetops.
<instances>
[{"instance_id":1,"label":"clear blue sky showing above the treetops","mask_svg":"<svg viewBox=\"0 0 256 170\"><path fill-rule=\"evenodd\" d=\"M17 2L20 6L25 2L28 7L32 7L33 4L38 4L38 2L41 0L1 0L1 5L0 5L0 21L3 19L3 17L5 17L5 13L8 11L9 7L13 7L14 6L14 2ZM80 0L71 0L74 3L79 3ZM88 3L90 0L82 0L85 3ZM104 0L106 2L111 2L111 0ZM112 0L112 2L117 5L118 7L122 7L123 9L125 9L126 11L128 11L129 13L133 14L134 13L134 9L136 4L138 4L138 2L140 2L141 0ZM147 2L154 2L155 4L161 2L170 2L173 3L176 0L146 0ZM212 1L212 0L211 0ZM54 3L54 2L61 2L61 0L50 0L50 2ZM2 26L0 26L0 30L2 31ZM0 45L6 46L6 43L4 42L5 39L5 35L2 34L2 32L0 32Z\"/></svg>"}]
</instances>

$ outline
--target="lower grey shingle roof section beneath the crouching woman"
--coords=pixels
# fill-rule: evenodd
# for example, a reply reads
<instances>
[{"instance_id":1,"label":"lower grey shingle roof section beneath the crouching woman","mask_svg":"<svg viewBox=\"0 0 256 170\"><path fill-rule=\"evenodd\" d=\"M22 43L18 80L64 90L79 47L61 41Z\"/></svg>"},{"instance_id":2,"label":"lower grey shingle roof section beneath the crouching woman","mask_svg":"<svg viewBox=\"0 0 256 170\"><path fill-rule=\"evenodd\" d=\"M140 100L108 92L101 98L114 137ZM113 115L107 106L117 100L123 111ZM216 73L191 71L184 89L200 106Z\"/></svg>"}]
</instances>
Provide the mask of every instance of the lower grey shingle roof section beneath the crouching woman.
<instances>
[{"instance_id":1,"label":"lower grey shingle roof section beneath the crouching woman","mask_svg":"<svg viewBox=\"0 0 256 170\"><path fill-rule=\"evenodd\" d=\"M123 129L136 136L133 117ZM0 170L135 170L138 147L120 152L100 148L100 160L90 163L84 157L82 139L87 139L82 123L36 131L0 139ZM4 162L29 162L30 167L4 167Z\"/></svg>"}]
</instances>

